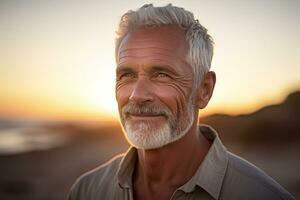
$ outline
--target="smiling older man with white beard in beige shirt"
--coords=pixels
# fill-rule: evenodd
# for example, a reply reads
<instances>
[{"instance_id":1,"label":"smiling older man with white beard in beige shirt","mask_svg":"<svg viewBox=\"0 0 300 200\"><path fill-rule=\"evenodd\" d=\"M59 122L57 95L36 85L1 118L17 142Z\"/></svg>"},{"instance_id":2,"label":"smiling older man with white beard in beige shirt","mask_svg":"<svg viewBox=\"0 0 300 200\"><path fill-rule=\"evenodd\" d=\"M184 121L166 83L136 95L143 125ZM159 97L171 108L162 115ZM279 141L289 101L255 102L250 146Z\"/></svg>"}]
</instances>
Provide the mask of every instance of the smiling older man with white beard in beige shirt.
<instances>
[{"instance_id":1,"label":"smiling older man with white beard in beige shirt","mask_svg":"<svg viewBox=\"0 0 300 200\"><path fill-rule=\"evenodd\" d=\"M171 4L123 15L116 40L116 99L131 148L83 175L69 199L293 199L198 126L216 82L213 41Z\"/></svg>"}]
</instances>

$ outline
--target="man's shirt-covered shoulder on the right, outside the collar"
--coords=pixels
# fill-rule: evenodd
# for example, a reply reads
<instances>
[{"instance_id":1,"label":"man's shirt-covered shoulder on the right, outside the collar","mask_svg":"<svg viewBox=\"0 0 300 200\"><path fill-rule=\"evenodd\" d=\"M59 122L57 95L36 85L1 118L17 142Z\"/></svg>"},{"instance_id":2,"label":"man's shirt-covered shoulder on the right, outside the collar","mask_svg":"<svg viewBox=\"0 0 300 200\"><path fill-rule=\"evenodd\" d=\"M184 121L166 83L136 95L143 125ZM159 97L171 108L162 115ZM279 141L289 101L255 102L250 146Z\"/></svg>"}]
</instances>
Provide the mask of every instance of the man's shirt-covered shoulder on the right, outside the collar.
<instances>
[{"instance_id":1,"label":"man's shirt-covered shoulder on the right, outside the collar","mask_svg":"<svg viewBox=\"0 0 300 200\"><path fill-rule=\"evenodd\" d=\"M293 199L269 175L232 153L228 153L228 168L222 191L225 197L233 195L235 198L232 199Z\"/></svg>"}]
</instances>

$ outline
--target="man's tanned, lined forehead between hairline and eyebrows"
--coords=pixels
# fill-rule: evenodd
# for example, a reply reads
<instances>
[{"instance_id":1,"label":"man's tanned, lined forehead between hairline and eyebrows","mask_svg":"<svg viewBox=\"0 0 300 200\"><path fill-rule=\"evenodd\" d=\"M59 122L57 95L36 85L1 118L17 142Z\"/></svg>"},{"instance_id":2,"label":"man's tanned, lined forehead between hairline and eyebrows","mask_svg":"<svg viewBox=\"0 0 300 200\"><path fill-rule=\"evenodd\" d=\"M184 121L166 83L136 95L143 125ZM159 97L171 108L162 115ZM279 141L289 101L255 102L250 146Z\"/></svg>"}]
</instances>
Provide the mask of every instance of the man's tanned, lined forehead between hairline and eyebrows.
<instances>
[{"instance_id":1,"label":"man's tanned, lined forehead between hairline and eyebrows","mask_svg":"<svg viewBox=\"0 0 300 200\"><path fill-rule=\"evenodd\" d=\"M160 47L175 55L186 56L188 45L185 31L177 26L143 27L129 32L121 41L117 56L130 48Z\"/></svg>"}]
</instances>

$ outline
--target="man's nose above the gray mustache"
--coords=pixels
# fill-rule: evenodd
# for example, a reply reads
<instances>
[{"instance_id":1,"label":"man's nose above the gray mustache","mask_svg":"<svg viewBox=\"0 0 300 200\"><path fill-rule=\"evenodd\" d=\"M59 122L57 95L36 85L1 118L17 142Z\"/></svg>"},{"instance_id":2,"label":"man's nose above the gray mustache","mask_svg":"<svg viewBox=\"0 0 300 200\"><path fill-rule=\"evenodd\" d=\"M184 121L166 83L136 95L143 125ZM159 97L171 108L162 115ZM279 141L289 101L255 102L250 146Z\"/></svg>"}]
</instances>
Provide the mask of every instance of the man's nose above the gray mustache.
<instances>
[{"instance_id":1,"label":"man's nose above the gray mustache","mask_svg":"<svg viewBox=\"0 0 300 200\"><path fill-rule=\"evenodd\" d=\"M139 78L133 86L129 100L136 104L153 102L154 97L151 83L144 78Z\"/></svg>"}]
</instances>

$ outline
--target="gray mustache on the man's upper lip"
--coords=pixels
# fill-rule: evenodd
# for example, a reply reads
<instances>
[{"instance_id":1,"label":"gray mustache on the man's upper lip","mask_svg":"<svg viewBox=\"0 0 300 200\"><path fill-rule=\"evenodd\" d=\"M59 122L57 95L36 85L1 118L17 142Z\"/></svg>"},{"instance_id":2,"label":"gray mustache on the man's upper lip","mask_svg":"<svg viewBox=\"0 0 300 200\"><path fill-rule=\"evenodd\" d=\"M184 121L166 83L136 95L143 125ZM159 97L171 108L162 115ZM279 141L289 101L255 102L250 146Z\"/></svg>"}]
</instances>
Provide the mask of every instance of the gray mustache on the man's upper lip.
<instances>
[{"instance_id":1,"label":"gray mustache on the man's upper lip","mask_svg":"<svg viewBox=\"0 0 300 200\"><path fill-rule=\"evenodd\" d=\"M166 106L156 106L152 104L133 104L128 103L122 109L125 116L128 115L163 115L172 116L172 111Z\"/></svg>"}]
</instances>

